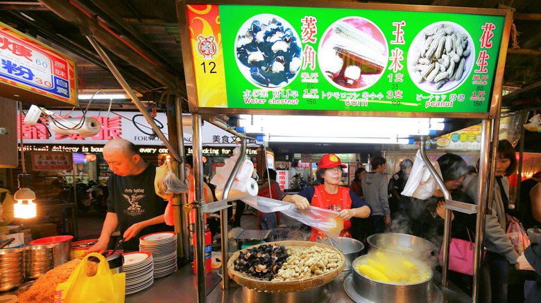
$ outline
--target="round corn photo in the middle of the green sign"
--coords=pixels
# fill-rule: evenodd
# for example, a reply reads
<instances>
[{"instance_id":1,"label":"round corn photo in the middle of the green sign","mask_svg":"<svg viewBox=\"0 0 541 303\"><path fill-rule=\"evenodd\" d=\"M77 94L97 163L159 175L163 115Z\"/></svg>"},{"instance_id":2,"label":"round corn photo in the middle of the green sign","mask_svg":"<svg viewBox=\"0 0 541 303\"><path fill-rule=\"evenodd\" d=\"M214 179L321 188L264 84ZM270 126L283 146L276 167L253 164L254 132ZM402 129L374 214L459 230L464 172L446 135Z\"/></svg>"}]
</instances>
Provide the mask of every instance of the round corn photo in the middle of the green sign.
<instances>
[{"instance_id":1,"label":"round corn photo in the middle of the green sign","mask_svg":"<svg viewBox=\"0 0 541 303\"><path fill-rule=\"evenodd\" d=\"M387 41L379 27L362 17L346 17L325 30L318 64L336 88L360 91L383 75L387 57Z\"/></svg>"}]
</instances>

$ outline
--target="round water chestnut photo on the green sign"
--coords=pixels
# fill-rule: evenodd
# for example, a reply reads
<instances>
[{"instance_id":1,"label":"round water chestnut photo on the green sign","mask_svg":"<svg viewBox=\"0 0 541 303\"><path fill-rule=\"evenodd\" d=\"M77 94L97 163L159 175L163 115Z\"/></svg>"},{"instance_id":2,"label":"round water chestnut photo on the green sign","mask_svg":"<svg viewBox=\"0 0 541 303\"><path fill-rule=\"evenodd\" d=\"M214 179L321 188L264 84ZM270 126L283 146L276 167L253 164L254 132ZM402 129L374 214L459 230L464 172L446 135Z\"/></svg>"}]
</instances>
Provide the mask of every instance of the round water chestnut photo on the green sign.
<instances>
[{"instance_id":1,"label":"round water chestnut photo on the green sign","mask_svg":"<svg viewBox=\"0 0 541 303\"><path fill-rule=\"evenodd\" d=\"M255 15L239 28L235 43L237 66L260 88L282 88L298 75L302 45L293 26L282 17Z\"/></svg>"}]
</instances>

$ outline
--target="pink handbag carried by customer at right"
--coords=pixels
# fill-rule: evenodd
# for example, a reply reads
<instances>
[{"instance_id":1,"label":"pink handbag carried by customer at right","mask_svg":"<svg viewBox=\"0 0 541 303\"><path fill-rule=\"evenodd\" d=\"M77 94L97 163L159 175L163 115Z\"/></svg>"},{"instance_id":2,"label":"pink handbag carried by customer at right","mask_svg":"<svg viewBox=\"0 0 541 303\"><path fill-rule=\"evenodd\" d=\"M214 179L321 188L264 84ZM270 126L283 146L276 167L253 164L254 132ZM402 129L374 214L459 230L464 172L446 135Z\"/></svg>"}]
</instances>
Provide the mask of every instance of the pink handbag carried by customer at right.
<instances>
[{"instance_id":1,"label":"pink handbag carried by customer at right","mask_svg":"<svg viewBox=\"0 0 541 303\"><path fill-rule=\"evenodd\" d=\"M470 238L470 230L467 230L467 237L470 241L463 239L452 238L449 244L449 270L463 273L465 275L473 275L474 267L474 248L475 244ZM486 251L483 252L483 258ZM440 250L440 265L443 258L443 244Z\"/></svg>"}]
</instances>

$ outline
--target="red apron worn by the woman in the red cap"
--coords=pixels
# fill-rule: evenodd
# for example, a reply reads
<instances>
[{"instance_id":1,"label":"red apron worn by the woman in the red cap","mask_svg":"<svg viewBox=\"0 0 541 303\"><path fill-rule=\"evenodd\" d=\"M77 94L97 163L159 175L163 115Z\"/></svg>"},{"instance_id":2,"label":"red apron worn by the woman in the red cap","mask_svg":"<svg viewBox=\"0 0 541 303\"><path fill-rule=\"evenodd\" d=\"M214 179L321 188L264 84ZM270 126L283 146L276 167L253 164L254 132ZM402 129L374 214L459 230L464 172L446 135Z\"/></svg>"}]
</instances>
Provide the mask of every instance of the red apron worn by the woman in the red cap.
<instances>
[{"instance_id":1,"label":"red apron worn by the woman in the red cap","mask_svg":"<svg viewBox=\"0 0 541 303\"><path fill-rule=\"evenodd\" d=\"M330 201L329 194L325 192L325 185L318 185L314 186L316 189L316 192L314 193L314 196L312 196L311 205L315 206L316 208L324 208L325 210L349 210L351 208L351 198L350 198L350 189L343 186L338 186L338 196L340 197L339 201ZM340 210L332 209L332 205L336 205L340 207ZM351 228L351 222L350 220L344 221L344 229L340 232L340 237L348 237L351 238L351 234L349 232L349 229ZM323 234L323 232L320 232L320 230L316 228L312 228L312 234L310 235L310 241L314 242L316 241L317 237L321 237L322 239L326 239L327 236Z\"/></svg>"}]
</instances>

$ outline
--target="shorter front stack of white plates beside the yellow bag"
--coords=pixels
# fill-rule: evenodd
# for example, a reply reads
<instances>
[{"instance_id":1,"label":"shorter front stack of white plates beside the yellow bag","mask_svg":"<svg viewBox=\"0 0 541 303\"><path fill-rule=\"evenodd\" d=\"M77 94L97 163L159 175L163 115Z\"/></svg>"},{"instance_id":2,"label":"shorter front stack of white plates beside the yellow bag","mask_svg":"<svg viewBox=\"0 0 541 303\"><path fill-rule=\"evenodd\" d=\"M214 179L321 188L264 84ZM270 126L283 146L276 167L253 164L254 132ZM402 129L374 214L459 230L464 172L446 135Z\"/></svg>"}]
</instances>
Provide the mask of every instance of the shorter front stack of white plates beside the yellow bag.
<instances>
[{"instance_id":1,"label":"shorter front stack of white plates beside the yellow bag","mask_svg":"<svg viewBox=\"0 0 541 303\"><path fill-rule=\"evenodd\" d=\"M123 271L126 273L126 295L137 293L154 282L154 265L150 252L128 252L124 257Z\"/></svg>"}]
</instances>

